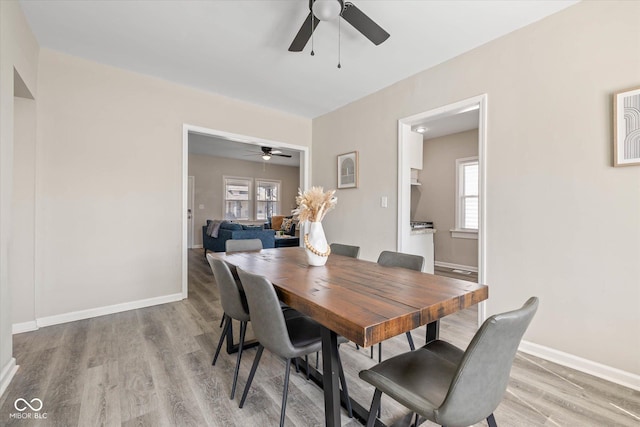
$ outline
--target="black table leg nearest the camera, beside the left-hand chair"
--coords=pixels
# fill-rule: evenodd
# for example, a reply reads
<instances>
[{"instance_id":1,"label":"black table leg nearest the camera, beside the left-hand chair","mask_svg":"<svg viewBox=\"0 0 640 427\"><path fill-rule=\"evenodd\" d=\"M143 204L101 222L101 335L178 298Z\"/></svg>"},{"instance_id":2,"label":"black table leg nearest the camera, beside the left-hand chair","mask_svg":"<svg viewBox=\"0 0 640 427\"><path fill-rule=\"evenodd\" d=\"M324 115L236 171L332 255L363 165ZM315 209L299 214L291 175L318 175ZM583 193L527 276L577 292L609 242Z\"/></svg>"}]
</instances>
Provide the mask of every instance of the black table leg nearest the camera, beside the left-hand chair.
<instances>
[{"instance_id":1,"label":"black table leg nearest the camera, beside the left-hand chair","mask_svg":"<svg viewBox=\"0 0 640 427\"><path fill-rule=\"evenodd\" d=\"M324 388L324 415L327 427L340 426L340 389L338 388L338 337L322 327L322 382Z\"/></svg>"}]
</instances>

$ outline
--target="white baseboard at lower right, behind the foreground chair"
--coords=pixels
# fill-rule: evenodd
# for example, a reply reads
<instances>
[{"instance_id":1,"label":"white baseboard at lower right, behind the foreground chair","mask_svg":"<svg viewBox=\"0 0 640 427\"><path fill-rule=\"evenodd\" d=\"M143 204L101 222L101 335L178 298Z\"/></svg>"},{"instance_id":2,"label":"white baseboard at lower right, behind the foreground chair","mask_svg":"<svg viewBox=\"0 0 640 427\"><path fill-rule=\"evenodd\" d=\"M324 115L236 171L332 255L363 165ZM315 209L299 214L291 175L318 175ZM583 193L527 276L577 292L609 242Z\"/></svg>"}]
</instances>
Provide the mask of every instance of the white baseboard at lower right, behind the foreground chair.
<instances>
[{"instance_id":1,"label":"white baseboard at lower right, behind the foreground chair","mask_svg":"<svg viewBox=\"0 0 640 427\"><path fill-rule=\"evenodd\" d=\"M602 378L603 380L611 381L624 387L640 391L640 375L632 374L631 372L626 372L621 369L603 365L592 360L583 359L582 357L574 356L573 354L564 353L562 351L528 341L522 341L518 350L550 362Z\"/></svg>"}]
</instances>

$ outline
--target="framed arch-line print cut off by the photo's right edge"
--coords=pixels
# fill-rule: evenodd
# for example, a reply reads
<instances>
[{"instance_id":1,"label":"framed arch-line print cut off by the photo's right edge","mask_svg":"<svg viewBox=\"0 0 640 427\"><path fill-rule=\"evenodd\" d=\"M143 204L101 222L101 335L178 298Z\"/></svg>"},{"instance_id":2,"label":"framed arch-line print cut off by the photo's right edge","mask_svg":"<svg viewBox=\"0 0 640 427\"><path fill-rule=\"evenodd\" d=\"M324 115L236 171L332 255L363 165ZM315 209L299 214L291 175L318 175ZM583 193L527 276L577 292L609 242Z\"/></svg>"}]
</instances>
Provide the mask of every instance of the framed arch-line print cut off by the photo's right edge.
<instances>
[{"instance_id":1,"label":"framed arch-line print cut off by the photo's right edge","mask_svg":"<svg viewBox=\"0 0 640 427\"><path fill-rule=\"evenodd\" d=\"M640 87L613 95L613 165L640 165Z\"/></svg>"}]
</instances>

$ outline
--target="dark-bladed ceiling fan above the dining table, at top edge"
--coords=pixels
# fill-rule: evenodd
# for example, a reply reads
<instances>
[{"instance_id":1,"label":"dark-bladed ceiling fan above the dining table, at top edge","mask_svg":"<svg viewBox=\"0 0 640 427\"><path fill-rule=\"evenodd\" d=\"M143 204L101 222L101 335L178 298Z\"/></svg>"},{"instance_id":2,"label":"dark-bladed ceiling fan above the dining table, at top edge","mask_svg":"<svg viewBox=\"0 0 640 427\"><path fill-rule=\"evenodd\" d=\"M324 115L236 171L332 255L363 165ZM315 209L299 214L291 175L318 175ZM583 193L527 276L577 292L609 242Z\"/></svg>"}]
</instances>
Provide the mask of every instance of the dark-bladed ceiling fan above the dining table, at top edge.
<instances>
[{"instance_id":1,"label":"dark-bladed ceiling fan above the dining table, at top edge","mask_svg":"<svg viewBox=\"0 0 640 427\"><path fill-rule=\"evenodd\" d=\"M309 0L309 15L300 27L290 52L302 52L320 21L329 21L341 16L376 46L389 38L389 33L358 9L353 3L344 0ZM313 22L311 20L313 19Z\"/></svg>"}]
</instances>

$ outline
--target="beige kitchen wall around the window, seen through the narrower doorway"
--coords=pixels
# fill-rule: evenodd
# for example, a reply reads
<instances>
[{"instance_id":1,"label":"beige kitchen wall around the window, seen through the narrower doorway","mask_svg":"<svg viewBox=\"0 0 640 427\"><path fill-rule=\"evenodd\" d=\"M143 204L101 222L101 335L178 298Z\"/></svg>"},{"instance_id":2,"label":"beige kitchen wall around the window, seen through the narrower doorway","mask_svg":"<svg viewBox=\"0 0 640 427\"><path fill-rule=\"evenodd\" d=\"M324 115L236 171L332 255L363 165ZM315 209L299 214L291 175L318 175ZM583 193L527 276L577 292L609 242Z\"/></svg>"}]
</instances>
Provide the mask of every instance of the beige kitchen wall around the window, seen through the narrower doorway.
<instances>
[{"instance_id":1,"label":"beige kitchen wall around the window, seen through the narrower doorway","mask_svg":"<svg viewBox=\"0 0 640 427\"><path fill-rule=\"evenodd\" d=\"M428 139L420 186L411 187L412 218L433 221L435 261L478 266L478 241L452 238L456 212L456 159L478 155L478 130ZM415 210L414 210L415 202Z\"/></svg>"}]
</instances>

